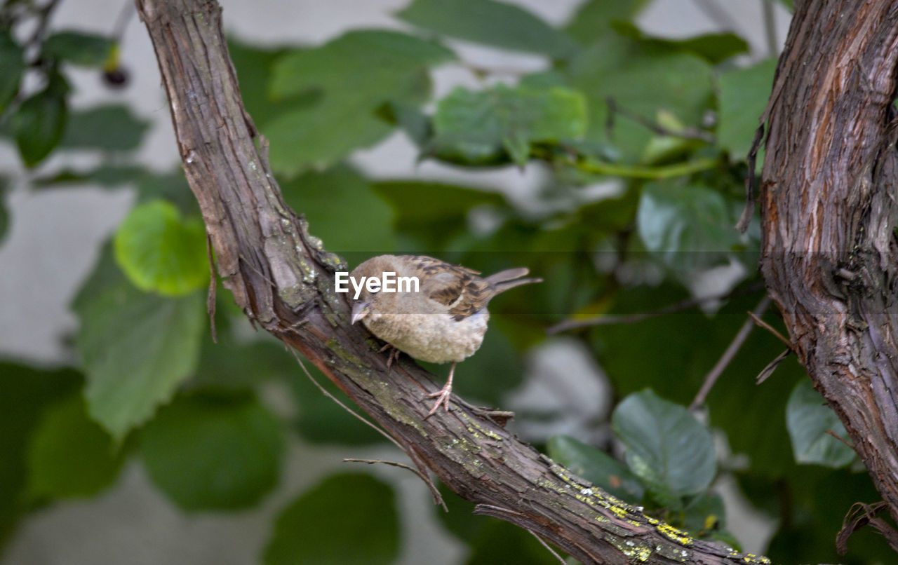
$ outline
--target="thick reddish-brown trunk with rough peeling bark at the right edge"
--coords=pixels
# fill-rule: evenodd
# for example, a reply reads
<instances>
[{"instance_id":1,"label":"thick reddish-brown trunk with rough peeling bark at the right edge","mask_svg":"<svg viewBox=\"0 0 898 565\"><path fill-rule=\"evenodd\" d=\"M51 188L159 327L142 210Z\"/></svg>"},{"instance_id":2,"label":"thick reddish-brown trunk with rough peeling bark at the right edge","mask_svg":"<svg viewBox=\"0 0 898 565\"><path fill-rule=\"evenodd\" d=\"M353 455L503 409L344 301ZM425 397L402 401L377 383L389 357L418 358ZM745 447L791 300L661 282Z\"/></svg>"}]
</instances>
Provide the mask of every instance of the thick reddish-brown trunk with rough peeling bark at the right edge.
<instances>
[{"instance_id":1,"label":"thick reddish-brown trunk with rough peeling bark at the right edge","mask_svg":"<svg viewBox=\"0 0 898 565\"><path fill-rule=\"evenodd\" d=\"M898 519L898 2L796 2L763 120L762 273Z\"/></svg>"}]
</instances>

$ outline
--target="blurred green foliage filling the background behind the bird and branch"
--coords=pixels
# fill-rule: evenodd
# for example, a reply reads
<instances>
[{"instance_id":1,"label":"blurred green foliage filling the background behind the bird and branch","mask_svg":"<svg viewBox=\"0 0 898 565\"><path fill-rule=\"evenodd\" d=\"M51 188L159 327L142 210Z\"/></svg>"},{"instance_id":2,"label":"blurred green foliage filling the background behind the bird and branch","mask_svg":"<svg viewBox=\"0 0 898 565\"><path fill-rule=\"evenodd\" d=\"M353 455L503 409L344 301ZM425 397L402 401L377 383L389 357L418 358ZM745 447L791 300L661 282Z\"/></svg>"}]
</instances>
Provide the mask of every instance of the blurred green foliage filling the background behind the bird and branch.
<instances>
[{"instance_id":1,"label":"blurred green foliage filling the background behind the bird and branch","mask_svg":"<svg viewBox=\"0 0 898 565\"><path fill-rule=\"evenodd\" d=\"M692 535L733 546L740 532L726 529L717 485L735 479L777 525L763 550L773 561L894 561L863 530L848 555L835 555L850 505L880 497L830 434L846 437L794 359L755 385L782 350L774 336L753 331L706 411L685 408L762 299L758 219L745 235L732 226L776 61L750 54L731 32L647 33L638 15L649 4L588 0L556 26L498 0L412 0L394 14L404 31L350 30L299 47L233 40L230 52L286 202L350 265L414 252L485 273L527 265L546 280L490 305L486 341L458 369L461 395L503 406L524 384L524 353L550 339L546 327L618 317L570 333L607 374L616 408L610 420L550 437L551 457ZM213 343L206 242L183 174L140 161L149 122L127 101L72 106L73 66L127 74L114 39L47 30L48 17L33 2L0 7L0 139L36 169L31 190L127 187L136 203L73 300L76 369L0 364L0 541L28 512L108 488L132 455L178 507L236 511L276 488L288 439L383 444L321 393L316 382L342 394L318 369L306 363L307 377L279 343L248 336L225 291ZM23 34L28 22L38 32ZM546 65L482 68L465 60L465 42ZM443 65L480 83L436 98L431 72ZM420 161L538 169L540 186L524 196L473 181L374 179L348 161L397 132ZM46 162L73 153L92 159ZM0 178L0 196L12 177ZM8 222L0 199L0 238ZM717 299L698 300L709 280L720 283ZM763 317L783 331L773 311ZM272 387L289 409L269 406ZM537 412L519 417L564 415ZM468 546L465 562L556 562L524 530L445 496L451 511L438 517ZM398 512L389 484L330 474L281 510L260 555L271 565L391 563L401 553Z\"/></svg>"}]
</instances>

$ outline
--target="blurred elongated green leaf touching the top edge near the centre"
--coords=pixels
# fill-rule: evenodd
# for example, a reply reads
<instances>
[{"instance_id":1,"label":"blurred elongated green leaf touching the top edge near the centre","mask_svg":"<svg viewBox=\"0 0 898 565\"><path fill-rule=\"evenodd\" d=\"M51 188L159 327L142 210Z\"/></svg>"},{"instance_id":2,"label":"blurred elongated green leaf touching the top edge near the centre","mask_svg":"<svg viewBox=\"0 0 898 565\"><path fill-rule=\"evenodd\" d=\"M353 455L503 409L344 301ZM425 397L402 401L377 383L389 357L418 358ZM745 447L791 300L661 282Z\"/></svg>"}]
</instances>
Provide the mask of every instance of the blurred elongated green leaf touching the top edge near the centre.
<instances>
[{"instance_id":1,"label":"blurred elongated green leaf touching the top edge near the centre","mask_svg":"<svg viewBox=\"0 0 898 565\"><path fill-rule=\"evenodd\" d=\"M569 57L574 42L533 13L494 0L415 0L396 13L419 28L498 48Z\"/></svg>"}]
</instances>

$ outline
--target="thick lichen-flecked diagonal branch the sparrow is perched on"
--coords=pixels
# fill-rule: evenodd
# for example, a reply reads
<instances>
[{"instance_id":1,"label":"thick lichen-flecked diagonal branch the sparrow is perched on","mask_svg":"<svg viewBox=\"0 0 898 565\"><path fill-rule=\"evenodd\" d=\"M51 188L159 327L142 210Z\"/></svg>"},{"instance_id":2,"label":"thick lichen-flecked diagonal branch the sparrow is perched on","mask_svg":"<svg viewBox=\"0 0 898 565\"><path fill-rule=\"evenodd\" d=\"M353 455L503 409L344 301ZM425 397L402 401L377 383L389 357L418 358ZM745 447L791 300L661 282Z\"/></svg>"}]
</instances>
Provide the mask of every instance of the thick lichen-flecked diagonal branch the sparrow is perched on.
<instances>
[{"instance_id":1,"label":"thick lichen-flecked diagonal branch the sparrow is perched on","mask_svg":"<svg viewBox=\"0 0 898 565\"><path fill-rule=\"evenodd\" d=\"M424 419L427 371L385 366L348 323L333 271L345 268L284 204L246 115L213 1L137 0L153 41L183 167L218 271L248 317L302 352L453 491L585 563L757 563L692 539L592 487L458 402Z\"/></svg>"}]
</instances>

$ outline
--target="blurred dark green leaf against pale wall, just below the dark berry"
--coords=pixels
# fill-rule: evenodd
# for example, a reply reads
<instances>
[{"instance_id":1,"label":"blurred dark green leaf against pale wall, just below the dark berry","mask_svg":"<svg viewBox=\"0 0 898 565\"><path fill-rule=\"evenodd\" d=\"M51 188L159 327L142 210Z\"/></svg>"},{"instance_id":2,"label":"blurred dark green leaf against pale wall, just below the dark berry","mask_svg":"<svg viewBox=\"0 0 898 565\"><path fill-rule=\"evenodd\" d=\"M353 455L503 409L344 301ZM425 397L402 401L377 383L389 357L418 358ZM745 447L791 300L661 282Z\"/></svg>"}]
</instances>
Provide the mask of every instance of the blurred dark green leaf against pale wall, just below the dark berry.
<instances>
[{"instance_id":1,"label":"blurred dark green leaf against pale wall, just below the dark berry","mask_svg":"<svg viewBox=\"0 0 898 565\"><path fill-rule=\"evenodd\" d=\"M107 104L73 112L60 147L133 151L150 124L136 117L128 106Z\"/></svg>"}]
</instances>

